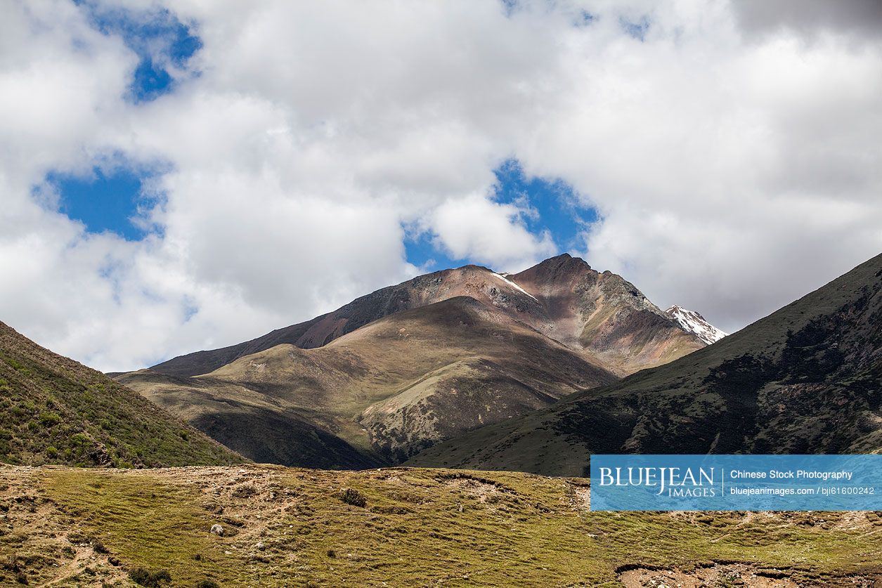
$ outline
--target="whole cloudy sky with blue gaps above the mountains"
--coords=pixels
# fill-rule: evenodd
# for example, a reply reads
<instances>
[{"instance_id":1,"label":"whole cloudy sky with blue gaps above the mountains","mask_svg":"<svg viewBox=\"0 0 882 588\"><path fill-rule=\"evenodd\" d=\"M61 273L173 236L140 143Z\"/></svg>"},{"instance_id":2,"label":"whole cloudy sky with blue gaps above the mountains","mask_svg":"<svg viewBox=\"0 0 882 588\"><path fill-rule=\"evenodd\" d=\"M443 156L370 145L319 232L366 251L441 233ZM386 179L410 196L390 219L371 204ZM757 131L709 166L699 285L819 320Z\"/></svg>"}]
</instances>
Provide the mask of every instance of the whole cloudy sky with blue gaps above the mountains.
<instances>
[{"instance_id":1,"label":"whole cloudy sky with blue gaps above the mountains","mask_svg":"<svg viewBox=\"0 0 882 588\"><path fill-rule=\"evenodd\" d=\"M0 321L94 368L562 252L736 331L882 252L876 0L0 2Z\"/></svg>"}]
</instances>

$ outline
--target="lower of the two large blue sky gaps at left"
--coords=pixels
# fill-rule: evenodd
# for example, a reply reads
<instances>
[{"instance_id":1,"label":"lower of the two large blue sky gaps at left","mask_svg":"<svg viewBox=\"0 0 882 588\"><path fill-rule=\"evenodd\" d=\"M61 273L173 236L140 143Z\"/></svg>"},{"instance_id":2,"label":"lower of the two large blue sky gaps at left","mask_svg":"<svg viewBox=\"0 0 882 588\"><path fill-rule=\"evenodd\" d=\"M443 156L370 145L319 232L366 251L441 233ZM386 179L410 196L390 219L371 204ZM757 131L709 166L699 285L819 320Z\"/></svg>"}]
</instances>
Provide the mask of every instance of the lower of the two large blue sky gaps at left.
<instances>
[{"instance_id":1,"label":"lower of the two large blue sky gaps at left","mask_svg":"<svg viewBox=\"0 0 882 588\"><path fill-rule=\"evenodd\" d=\"M85 177L51 172L46 182L59 194L59 211L82 222L89 233L109 231L138 241L146 235L143 225L134 222L138 208L155 204L155 199L144 194L144 183L150 177L129 168L106 172L94 167L93 175Z\"/></svg>"}]
</instances>

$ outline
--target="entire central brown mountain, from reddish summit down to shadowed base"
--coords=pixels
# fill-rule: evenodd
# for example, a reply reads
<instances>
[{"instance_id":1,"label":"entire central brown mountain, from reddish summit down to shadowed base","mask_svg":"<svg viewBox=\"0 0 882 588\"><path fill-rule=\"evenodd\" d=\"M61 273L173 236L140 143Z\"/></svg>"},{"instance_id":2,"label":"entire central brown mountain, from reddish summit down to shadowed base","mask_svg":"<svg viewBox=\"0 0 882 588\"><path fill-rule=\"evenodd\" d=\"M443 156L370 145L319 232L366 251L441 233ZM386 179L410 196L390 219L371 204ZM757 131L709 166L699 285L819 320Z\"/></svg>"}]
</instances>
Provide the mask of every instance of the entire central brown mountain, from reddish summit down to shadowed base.
<instances>
[{"instance_id":1,"label":"entire central brown mountain, from reddish summit down to shadowed base","mask_svg":"<svg viewBox=\"0 0 882 588\"><path fill-rule=\"evenodd\" d=\"M702 346L631 283L563 255L517 274L466 265L419 276L116 377L248 458L358 468Z\"/></svg>"}]
</instances>

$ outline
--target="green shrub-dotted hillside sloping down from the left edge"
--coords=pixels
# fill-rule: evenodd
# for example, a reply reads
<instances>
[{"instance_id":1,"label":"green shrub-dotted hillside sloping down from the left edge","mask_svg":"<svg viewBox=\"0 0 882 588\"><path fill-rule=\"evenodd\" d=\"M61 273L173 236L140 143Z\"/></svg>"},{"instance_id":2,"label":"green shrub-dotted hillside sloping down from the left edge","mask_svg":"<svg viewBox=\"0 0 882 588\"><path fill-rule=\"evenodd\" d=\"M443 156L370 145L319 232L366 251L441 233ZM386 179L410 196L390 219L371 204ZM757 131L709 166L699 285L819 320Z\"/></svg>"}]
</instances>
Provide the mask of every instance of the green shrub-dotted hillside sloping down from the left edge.
<instances>
[{"instance_id":1,"label":"green shrub-dotted hillside sloping down from the left edge","mask_svg":"<svg viewBox=\"0 0 882 588\"><path fill-rule=\"evenodd\" d=\"M0 323L0 461L222 465L243 458L108 376Z\"/></svg>"}]
</instances>

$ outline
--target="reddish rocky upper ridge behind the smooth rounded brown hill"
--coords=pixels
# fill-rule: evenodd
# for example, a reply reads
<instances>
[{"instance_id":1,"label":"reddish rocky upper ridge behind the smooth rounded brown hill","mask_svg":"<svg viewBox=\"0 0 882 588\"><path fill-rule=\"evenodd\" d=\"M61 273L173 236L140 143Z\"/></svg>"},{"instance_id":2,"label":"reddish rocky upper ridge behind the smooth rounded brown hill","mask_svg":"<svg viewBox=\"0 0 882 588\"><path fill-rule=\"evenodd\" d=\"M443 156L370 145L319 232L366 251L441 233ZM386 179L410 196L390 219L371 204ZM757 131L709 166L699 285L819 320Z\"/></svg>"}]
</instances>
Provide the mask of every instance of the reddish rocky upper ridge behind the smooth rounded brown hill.
<instances>
[{"instance_id":1,"label":"reddish rocky upper ridge behind the smooth rounded brown hill","mask_svg":"<svg viewBox=\"0 0 882 588\"><path fill-rule=\"evenodd\" d=\"M182 355L151 369L198 376L283 343L320 347L383 316L457 296L499 309L618 375L660 365L705 345L630 282L610 272L595 272L584 260L564 254L511 276L476 265L426 274L305 323L239 345Z\"/></svg>"}]
</instances>

